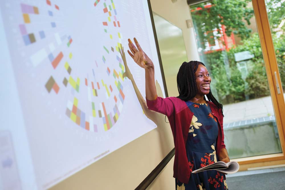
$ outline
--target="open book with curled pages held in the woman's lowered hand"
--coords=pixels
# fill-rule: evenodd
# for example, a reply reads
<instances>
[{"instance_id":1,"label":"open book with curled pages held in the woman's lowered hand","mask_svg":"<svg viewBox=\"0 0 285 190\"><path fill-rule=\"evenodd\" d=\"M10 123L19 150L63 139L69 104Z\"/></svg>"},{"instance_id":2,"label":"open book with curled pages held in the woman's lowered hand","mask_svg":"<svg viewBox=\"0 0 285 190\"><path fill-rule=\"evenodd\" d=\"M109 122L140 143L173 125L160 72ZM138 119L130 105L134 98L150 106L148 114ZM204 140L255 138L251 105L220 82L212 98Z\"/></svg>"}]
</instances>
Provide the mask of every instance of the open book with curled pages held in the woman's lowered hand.
<instances>
[{"instance_id":1,"label":"open book with curled pages held in the woman's lowered hand","mask_svg":"<svg viewBox=\"0 0 285 190\"><path fill-rule=\"evenodd\" d=\"M192 171L192 173L198 173L198 172L210 170L210 169L215 169L223 173L236 173L237 171L239 171L239 163L237 163L236 161L230 161L228 163L225 163L223 161L218 161L216 163L207 165L200 169L196 169Z\"/></svg>"}]
</instances>

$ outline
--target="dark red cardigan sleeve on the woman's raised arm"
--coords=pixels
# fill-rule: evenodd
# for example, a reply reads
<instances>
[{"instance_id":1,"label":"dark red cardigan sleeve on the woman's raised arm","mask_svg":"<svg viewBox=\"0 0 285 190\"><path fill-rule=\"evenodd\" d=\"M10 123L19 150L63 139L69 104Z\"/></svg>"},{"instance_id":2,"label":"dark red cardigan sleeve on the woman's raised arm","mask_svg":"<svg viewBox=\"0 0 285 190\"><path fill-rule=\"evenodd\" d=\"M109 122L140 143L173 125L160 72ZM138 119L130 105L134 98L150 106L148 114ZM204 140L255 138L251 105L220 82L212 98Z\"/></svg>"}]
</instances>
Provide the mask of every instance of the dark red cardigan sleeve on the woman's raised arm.
<instances>
[{"instance_id":1,"label":"dark red cardigan sleeve on the woman's raised arm","mask_svg":"<svg viewBox=\"0 0 285 190\"><path fill-rule=\"evenodd\" d=\"M149 110L159 112L169 117L173 111L173 103L169 98L157 97L155 100L146 99L146 105Z\"/></svg>"}]
</instances>

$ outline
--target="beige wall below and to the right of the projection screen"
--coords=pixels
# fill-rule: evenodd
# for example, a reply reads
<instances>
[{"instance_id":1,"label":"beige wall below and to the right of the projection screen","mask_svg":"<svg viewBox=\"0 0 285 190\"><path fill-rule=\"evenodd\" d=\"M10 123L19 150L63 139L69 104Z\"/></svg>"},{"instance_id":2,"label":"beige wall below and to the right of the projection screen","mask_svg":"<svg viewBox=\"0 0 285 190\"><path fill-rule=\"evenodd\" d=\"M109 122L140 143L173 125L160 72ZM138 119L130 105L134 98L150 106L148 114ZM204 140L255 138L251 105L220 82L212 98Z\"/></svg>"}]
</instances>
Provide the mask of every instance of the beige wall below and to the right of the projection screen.
<instances>
[{"instance_id":1,"label":"beige wall below and to the right of the projection screen","mask_svg":"<svg viewBox=\"0 0 285 190\"><path fill-rule=\"evenodd\" d=\"M151 0L152 10L182 29L189 60L199 60L185 0ZM103 157L51 189L135 189L174 147L169 124L159 115L158 127ZM148 189L174 189L173 158ZM162 185L163 184L163 185ZM163 187L163 188L161 188Z\"/></svg>"}]
</instances>

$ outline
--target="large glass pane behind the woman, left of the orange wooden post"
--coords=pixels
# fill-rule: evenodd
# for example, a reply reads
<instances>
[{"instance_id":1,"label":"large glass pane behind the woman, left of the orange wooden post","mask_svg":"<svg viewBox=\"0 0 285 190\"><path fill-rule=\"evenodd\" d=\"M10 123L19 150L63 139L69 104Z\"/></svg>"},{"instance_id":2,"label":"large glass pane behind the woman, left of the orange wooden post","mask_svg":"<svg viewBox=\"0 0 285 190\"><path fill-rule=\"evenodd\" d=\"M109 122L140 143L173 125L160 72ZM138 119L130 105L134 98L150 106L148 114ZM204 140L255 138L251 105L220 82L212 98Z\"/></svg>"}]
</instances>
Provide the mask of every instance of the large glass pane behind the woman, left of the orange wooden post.
<instances>
[{"instance_id":1,"label":"large glass pane behind the woman, left of the orange wooden post","mask_svg":"<svg viewBox=\"0 0 285 190\"><path fill-rule=\"evenodd\" d=\"M282 152L251 1L213 0L190 9L211 91L223 104L230 158Z\"/></svg>"}]
</instances>

